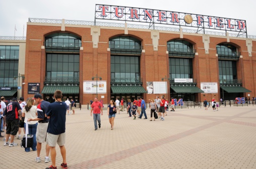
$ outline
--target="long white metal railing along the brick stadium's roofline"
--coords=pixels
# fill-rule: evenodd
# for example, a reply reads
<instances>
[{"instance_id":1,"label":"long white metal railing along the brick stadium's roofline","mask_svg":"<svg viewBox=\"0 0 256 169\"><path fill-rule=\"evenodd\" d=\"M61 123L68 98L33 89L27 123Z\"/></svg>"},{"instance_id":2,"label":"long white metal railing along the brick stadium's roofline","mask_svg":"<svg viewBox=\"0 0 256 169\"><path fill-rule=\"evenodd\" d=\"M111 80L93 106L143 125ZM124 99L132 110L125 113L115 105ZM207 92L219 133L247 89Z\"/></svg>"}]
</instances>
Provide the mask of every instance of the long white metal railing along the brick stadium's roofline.
<instances>
[{"instance_id":1,"label":"long white metal railing along the brick stadium's roofline","mask_svg":"<svg viewBox=\"0 0 256 169\"><path fill-rule=\"evenodd\" d=\"M62 24L62 20L56 19L39 19L39 18L29 18L28 22L30 23L45 23L45 24ZM65 20L65 24L70 25L87 25L87 26L102 26L102 27L118 27L124 28L125 24L121 23L105 23L105 22L93 22L93 21L76 21L76 20ZM137 25L137 24L127 24L127 28L135 28L135 29L151 29L158 31L172 31L179 32L179 28L172 27L159 27L159 26L149 26L149 25ZM225 32L214 32L214 31L198 31L197 29L182 29L183 33L194 33L194 34L206 34L206 35L215 35L215 36L226 36ZM229 33L229 37L238 37L238 38L250 38L256 39L255 35L239 35L239 34L231 34Z\"/></svg>"}]
</instances>

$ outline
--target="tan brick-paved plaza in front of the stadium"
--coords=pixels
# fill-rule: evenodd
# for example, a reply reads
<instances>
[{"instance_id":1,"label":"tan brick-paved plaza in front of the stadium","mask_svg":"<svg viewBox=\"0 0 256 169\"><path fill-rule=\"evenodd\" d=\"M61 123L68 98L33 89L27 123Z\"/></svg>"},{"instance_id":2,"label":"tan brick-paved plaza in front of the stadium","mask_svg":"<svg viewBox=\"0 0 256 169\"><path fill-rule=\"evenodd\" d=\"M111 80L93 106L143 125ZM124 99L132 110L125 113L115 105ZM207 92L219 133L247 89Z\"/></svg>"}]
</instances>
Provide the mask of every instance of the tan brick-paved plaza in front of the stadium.
<instances>
[{"instance_id":1,"label":"tan brick-paved plaza in front of the stadium","mask_svg":"<svg viewBox=\"0 0 256 169\"><path fill-rule=\"evenodd\" d=\"M69 168L256 168L256 106L176 109L165 121L116 114L110 130L107 112L94 131L90 110L67 115L66 148ZM4 134L5 135L5 134ZM20 140L15 138L20 143ZM25 152L0 141L0 168L45 168L36 151ZM56 148L57 167L62 162Z\"/></svg>"}]
</instances>

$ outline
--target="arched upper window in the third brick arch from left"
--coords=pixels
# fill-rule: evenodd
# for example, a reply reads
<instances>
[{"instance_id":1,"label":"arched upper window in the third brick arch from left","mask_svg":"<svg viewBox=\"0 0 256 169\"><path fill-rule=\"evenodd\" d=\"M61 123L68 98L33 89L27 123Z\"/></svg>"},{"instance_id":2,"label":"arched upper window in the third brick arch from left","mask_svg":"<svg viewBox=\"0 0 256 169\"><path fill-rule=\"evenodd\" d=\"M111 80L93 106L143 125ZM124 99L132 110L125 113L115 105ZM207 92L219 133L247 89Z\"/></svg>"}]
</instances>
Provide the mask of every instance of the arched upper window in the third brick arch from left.
<instances>
[{"instance_id":1,"label":"arched upper window in the third brick arch from left","mask_svg":"<svg viewBox=\"0 0 256 169\"><path fill-rule=\"evenodd\" d=\"M183 40L172 40L167 42L167 50L169 52L178 53L195 53L193 44Z\"/></svg>"}]
</instances>

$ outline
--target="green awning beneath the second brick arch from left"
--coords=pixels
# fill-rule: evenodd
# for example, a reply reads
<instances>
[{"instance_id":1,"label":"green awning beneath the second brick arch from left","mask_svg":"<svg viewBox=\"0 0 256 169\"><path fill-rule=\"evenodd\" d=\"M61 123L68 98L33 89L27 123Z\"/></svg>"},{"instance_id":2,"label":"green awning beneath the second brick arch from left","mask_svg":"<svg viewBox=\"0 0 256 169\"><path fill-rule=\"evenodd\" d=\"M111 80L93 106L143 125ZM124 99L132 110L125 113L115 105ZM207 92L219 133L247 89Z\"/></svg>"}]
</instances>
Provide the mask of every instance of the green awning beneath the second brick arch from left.
<instances>
[{"instance_id":1,"label":"green awning beneath the second brick arch from left","mask_svg":"<svg viewBox=\"0 0 256 169\"><path fill-rule=\"evenodd\" d=\"M112 86L112 93L147 93L142 86Z\"/></svg>"}]
</instances>

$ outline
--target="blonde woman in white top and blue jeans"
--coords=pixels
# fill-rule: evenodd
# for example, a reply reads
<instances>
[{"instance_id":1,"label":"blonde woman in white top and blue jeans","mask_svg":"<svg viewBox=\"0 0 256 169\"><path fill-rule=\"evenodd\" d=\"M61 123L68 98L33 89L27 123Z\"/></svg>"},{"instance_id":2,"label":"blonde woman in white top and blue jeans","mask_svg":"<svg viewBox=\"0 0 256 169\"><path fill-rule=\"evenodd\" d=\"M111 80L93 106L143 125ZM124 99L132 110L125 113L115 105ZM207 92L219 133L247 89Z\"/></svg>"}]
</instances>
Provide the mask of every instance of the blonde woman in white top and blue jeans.
<instances>
[{"instance_id":1,"label":"blonde woman in white top and blue jeans","mask_svg":"<svg viewBox=\"0 0 256 169\"><path fill-rule=\"evenodd\" d=\"M33 98L29 98L27 100L27 104L23 109L22 117L25 118L25 121L28 118L36 118L37 112L36 112L36 106L35 106L35 100ZM32 144L32 150L36 151L36 128L37 128L37 121L28 121L28 133L33 134L33 144ZM24 128L26 129L26 123L24 124ZM26 152L30 151L30 147L25 148Z\"/></svg>"}]
</instances>

